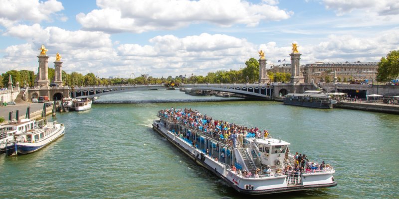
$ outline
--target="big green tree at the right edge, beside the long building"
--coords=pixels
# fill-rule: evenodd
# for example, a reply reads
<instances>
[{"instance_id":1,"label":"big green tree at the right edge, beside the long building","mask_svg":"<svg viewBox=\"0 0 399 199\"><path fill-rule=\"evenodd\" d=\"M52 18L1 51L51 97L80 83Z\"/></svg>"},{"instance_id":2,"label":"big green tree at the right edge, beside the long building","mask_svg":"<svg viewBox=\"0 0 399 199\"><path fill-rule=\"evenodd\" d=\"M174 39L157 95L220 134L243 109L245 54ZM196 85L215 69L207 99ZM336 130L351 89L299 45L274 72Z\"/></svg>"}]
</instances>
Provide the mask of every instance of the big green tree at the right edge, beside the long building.
<instances>
[{"instance_id":1,"label":"big green tree at the right edge, beside the long building","mask_svg":"<svg viewBox=\"0 0 399 199\"><path fill-rule=\"evenodd\" d=\"M378 63L377 81L388 82L399 76L399 50L393 50Z\"/></svg>"}]
</instances>

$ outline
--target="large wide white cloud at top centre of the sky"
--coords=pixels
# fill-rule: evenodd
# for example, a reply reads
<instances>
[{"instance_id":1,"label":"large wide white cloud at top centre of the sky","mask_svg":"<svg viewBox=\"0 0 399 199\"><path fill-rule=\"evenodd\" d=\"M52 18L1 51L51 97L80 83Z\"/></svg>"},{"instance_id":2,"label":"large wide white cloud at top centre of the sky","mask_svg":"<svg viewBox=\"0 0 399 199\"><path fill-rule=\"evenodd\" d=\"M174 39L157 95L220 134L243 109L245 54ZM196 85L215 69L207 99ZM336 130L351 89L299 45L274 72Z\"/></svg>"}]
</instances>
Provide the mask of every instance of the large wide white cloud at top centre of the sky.
<instances>
[{"instance_id":1,"label":"large wide white cloud at top centre of the sky","mask_svg":"<svg viewBox=\"0 0 399 199\"><path fill-rule=\"evenodd\" d=\"M288 19L293 12L279 9L276 0L253 4L241 0L98 0L101 9L76 15L86 30L141 33L171 30L192 23L219 26Z\"/></svg>"}]
</instances>

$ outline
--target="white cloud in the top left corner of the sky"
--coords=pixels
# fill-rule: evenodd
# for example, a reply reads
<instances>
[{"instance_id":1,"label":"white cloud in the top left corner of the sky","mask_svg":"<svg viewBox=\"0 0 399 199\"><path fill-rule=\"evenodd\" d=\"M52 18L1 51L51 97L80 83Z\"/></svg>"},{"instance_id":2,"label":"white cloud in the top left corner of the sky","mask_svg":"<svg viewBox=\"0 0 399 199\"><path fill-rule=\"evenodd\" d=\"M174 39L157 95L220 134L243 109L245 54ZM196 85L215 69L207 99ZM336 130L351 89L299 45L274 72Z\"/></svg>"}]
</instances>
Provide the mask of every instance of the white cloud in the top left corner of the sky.
<instances>
[{"instance_id":1,"label":"white cloud in the top left corner of the sky","mask_svg":"<svg viewBox=\"0 0 399 199\"><path fill-rule=\"evenodd\" d=\"M50 15L64 9L57 0L0 0L0 25L8 26L21 20L50 21ZM4 22L6 21L6 22Z\"/></svg>"}]
</instances>

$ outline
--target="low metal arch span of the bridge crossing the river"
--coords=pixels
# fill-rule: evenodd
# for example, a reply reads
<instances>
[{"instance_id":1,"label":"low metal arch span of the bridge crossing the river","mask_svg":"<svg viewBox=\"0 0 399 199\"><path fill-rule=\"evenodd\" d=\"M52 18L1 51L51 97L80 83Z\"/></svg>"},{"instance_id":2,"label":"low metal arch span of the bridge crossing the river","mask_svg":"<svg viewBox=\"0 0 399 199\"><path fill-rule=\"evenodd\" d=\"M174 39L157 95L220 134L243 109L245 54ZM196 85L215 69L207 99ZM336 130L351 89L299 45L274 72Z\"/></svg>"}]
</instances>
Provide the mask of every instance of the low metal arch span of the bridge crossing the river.
<instances>
[{"instance_id":1,"label":"low metal arch span of the bridge crossing the river","mask_svg":"<svg viewBox=\"0 0 399 199\"><path fill-rule=\"evenodd\" d=\"M239 94L248 98L261 100L270 100L270 94L273 94L273 88L266 84L183 84L175 89L195 89L195 90L211 90ZM122 92L132 91L148 91L167 89L165 85L110 85L110 86L89 86L75 87L70 96L73 98L79 96L104 96Z\"/></svg>"}]
</instances>

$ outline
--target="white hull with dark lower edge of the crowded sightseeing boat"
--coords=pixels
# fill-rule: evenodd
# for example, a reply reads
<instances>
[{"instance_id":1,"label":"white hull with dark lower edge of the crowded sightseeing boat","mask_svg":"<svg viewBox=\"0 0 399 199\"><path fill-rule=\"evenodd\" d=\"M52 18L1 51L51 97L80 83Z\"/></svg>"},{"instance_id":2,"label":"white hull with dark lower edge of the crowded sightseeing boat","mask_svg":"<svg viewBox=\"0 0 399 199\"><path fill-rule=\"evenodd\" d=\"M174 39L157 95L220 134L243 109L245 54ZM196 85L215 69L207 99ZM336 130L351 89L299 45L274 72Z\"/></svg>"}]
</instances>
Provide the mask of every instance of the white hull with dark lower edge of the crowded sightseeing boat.
<instances>
[{"instance_id":1,"label":"white hull with dark lower edge of the crowded sightseeing boat","mask_svg":"<svg viewBox=\"0 0 399 199\"><path fill-rule=\"evenodd\" d=\"M228 183L230 187L232 187L234 190L236 190L239 193L247 195L266 195L273 193L294 192L294 191L303 191L309 189L337 186L337 182L334 181L332 173L325 174L324 177L324 179L330 179L330 181L332 179L332 182L321 185L312 185L309 183L309 185L287 186L286 182L287 176L280 176L277 178L274 177L266 181L262 179L249 179L249 178L239 177L236 174L232 173L231 171L227 170L225 165L223 165L222 163L219 163L214 159L212 159L211 157L203 154L203 152L194 148L189 143L186 143L183 140L179 139L177 136L167 133L168 131L162 126L159 128L158 126L162 125L161 123L157 124L153 123L153 129L155 131L157 131L159 134L167 138L168 141L170 141L173 145L175 145L178 149L180 149L183 153L185 153L189 158L194 160L197 164L208 169L215 176L224 180L226 183ZM323 176L323 175L314 175L314 176ZM310 179L309 182L311 182ZM253 189L254 187L255 189Z\"/></svg>"}]
</instances>

